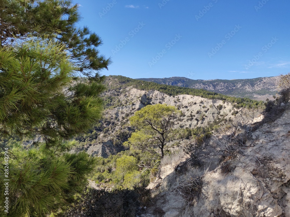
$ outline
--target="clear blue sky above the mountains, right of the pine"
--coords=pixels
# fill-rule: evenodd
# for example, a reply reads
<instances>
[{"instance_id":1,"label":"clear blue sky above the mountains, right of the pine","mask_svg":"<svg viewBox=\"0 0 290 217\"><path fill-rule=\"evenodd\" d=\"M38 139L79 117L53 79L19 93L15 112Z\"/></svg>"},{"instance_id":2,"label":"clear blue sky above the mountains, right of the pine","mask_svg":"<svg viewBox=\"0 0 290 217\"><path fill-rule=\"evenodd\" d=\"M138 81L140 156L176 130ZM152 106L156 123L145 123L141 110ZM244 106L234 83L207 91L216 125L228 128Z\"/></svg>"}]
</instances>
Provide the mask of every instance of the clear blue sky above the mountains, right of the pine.
<instances>
[{"instance_id":1,"label":"clear blue sky above the mountains, right of the pine","mask_svg":"<svg viewBox=\"0 0 290 217\"><path fill-rule=\"evenodd\" d=\"M104 75L240 79L290 72L289 0L79 0Z\"/></svg>"}]
</instances>

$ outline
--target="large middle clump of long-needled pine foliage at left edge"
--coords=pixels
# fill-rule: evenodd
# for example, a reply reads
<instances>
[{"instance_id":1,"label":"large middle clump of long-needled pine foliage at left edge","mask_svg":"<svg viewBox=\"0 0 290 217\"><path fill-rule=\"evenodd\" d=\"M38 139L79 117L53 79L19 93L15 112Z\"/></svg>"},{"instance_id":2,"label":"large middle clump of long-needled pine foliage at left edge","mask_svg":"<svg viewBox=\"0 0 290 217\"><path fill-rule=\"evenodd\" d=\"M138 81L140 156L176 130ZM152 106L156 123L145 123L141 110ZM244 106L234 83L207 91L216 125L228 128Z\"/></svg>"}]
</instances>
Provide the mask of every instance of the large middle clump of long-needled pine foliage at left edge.
<instances>
[{"instance_id":1,"label":"large middle clump of long-needled pine foliage at left edge","mask_svg":"<svg viewBox=\"0 0 290 217\"><path fill-rule=\"evenodd\" d=\"M73 64L64 46L31 40L0 48L0 134L70 139L101 117L104 89L96 82L72 82Z\"/></svg>"}]
</instances>

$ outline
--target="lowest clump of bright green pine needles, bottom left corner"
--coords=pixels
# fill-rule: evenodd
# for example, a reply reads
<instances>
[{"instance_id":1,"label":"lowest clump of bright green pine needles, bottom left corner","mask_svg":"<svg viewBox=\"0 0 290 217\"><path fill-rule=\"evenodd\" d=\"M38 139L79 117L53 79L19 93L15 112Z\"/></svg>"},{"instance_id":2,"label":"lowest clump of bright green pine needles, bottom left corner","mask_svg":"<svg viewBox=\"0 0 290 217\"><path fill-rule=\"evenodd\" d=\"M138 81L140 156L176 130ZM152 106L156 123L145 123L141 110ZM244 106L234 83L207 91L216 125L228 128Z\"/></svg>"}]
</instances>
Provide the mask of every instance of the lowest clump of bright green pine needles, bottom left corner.
<instances>
[{"instance_id":1,"label":"lowest clump of bright green pine needles, bottom left corner","mask_svg":"<svg viewBox=\"0 0 290 217\"><path fill-rule=\"evenodd\" d=\"M57 149L47 149L45 144L29 150L12 149L17 158L9 161L9 216L45 217L58 213L74 200L75 193L82 192L95 162L85 152L63 154L71 145L67 142ZM4 179L8 178L1 175L1 186L5 186ZM1 187L0 216L6 210L4 190Z\"/></svg>"}]
</instances>

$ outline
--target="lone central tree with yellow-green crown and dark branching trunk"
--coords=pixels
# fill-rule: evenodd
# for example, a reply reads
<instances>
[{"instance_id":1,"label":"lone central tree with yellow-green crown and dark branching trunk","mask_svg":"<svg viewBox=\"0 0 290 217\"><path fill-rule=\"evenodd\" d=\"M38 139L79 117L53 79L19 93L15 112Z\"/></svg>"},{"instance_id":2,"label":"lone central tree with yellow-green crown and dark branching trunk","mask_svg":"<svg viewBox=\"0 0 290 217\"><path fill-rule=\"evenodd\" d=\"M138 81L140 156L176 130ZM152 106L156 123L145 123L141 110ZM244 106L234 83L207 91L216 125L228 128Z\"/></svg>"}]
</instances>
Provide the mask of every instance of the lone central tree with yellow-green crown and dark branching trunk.
<instances>
[{"instance_id":1,"label":"lone central tree with yellow-green crown and dark branching trunk","mask_svg":"<svg viewBox=\"0 0 290 217\"><path fill-rule=\"evenodd\" d=\"M168 144L177 134L173 127L180 116L181 111L166 104L142 108L130 118L131 125L137 130L132 133L128 143L163 158L165 151L172 146Z\"/></svg>"}]
</instances>

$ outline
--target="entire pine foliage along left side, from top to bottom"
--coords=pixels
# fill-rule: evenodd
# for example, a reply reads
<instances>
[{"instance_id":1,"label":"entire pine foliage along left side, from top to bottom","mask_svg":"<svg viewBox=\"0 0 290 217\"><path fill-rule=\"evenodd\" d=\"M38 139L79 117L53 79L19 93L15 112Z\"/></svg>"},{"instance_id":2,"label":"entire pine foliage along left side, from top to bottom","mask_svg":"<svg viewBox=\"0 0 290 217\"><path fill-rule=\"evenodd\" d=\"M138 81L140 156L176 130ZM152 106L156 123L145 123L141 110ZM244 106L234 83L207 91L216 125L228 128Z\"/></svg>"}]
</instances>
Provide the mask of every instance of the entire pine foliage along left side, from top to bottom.
<instances>
[{"instance_id":1,"label":"entire pine foliage along left side, from top to bottom","mask_svg":"<svg viewBox=\"0 0 290 217\"><path fill-rule=\"evenodd\" d=\"M0 1L0 185L9 180L9 216L60 212L95 166L68 151L102 116L99 71L110 58L99 54L97 34L77 27L77 9L70 0Z\"/></svg>"}]
</instances>

